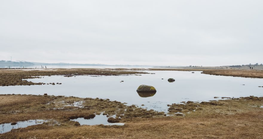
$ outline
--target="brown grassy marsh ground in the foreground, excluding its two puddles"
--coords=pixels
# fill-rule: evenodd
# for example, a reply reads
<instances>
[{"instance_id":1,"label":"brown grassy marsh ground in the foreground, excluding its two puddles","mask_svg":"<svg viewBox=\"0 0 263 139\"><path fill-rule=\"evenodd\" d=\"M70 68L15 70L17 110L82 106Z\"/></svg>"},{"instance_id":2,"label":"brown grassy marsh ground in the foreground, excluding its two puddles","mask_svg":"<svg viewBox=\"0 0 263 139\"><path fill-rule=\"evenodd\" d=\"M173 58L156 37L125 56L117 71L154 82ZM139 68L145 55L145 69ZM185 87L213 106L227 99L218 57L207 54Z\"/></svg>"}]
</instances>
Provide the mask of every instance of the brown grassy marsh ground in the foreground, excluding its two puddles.
<instances>
[{"instance_id":1,"label":"brown grassy marsh ground in the foreground, excluding its two puddles","mask_svg":"<svg viewBox=\"0 0 263 139\"><path fill-rule=\"evenodd\" d=\"M168 113L99 98L0 95L0 100L0 124L47 121L12 129L0 138L263 138L262 97L169 104ZM125 125L90 126L72 120L102 113Z\"/></svg>"}]
</instances>

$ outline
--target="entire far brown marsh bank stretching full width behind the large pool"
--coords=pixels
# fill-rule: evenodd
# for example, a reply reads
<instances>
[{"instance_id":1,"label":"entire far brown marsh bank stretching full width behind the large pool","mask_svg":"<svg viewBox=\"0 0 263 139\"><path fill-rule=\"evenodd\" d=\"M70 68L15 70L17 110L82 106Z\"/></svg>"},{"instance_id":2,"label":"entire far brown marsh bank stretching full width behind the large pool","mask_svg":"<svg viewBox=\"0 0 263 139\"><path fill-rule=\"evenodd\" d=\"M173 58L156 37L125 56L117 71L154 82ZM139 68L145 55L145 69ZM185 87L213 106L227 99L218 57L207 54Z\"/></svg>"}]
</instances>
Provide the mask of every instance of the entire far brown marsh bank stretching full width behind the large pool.
<instances>
[{"instance_id":1,"label":"entire far brown marsh bank stretching full width behind the large pool","mask_svg":"<svg viewBox=\"0 0 263 139\"><path fill-rule=\"evenodd\" d=\"M145 70L146 72L137 72L136 70ZM223 75L233 77L246 78L263 78L263 70L248 69L180 69L180 68L149 68L149 69L94 69L94 68L74 68L74 69L0 69L0 86L16 86L16 85L42 85L46 83L33 83L25 79L40 78L39 76L63 75L65 77L73 77L77 75L137 75L148 74L147 70L152 71L202 71L203 74Z\"/></svg>"}]
</instances>

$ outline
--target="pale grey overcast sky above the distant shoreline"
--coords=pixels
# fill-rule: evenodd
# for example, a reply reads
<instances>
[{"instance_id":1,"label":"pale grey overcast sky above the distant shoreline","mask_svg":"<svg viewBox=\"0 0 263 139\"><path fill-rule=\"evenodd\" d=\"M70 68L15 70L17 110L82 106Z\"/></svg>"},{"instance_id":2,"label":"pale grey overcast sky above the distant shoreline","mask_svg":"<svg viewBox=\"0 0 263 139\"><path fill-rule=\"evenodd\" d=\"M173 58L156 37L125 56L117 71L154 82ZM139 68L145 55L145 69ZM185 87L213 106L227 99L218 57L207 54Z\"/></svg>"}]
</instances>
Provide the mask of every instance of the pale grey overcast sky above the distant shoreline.
<instances>
[{"instance_id":1,"label":"pale grey overcast sky above the distant shoreline","mask_svg":"<svg viewBox=\"0 0 263 139\"><path fill-rule=\"evenodd\" d=\"M2 0L0 60L263 63L262 0Z\"/></svg>"}]
</instances>

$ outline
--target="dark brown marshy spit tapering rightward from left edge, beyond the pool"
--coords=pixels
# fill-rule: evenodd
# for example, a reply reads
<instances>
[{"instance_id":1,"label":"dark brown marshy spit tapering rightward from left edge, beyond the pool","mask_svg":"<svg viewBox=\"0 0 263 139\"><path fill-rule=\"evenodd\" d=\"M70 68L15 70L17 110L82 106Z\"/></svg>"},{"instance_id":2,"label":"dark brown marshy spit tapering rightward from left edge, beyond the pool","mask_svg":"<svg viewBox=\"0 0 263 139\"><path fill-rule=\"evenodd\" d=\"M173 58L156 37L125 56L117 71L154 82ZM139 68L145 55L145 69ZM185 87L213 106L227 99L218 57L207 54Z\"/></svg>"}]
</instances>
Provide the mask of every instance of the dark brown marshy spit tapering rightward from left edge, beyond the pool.
<instances>
[{"instance_id":1,"label":"dark brown marshy spit tapering rightward from left edge, beyond the pool","mask_svg":"<svg viewBox=\"0 0 263 139\"><path fill-rule=\"evenodd\" d=\"M47 69L47 70L23 70L23 69L0 69L0 86L15 85L42 85L44 83L33 83L23 79L39 78L38 76L64 75L73 77L76 75L131 75L147 74L137 71L113 71L110 69Z\"/></svg>"}]
</instances>

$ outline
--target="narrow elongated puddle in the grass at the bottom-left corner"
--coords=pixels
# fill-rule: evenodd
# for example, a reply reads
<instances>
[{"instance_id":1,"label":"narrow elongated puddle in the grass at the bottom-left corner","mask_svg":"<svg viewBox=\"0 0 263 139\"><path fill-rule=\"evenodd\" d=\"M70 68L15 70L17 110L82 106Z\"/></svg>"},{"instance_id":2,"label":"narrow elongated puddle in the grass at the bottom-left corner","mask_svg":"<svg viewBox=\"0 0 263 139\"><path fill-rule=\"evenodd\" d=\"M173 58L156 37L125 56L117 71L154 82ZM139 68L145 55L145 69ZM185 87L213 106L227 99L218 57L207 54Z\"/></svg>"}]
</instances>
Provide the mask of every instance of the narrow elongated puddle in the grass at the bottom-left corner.
<instances>
[{"instance_id":1,"label":"narrow elongated puddle in the grass at the bottom-left corner","mask_svg":"<svg viewBox=\"0 0 263 139\"><path fill-rule=\"evenodd\" d=\"M46 121L47 120L36 119L28 121L19 121L15 125L11 125L11 123L0 124L0 134L10 132L12 129L25 128L27 126L42 124Z\"/></svg>"}]
</instances>

